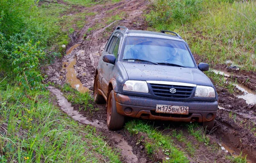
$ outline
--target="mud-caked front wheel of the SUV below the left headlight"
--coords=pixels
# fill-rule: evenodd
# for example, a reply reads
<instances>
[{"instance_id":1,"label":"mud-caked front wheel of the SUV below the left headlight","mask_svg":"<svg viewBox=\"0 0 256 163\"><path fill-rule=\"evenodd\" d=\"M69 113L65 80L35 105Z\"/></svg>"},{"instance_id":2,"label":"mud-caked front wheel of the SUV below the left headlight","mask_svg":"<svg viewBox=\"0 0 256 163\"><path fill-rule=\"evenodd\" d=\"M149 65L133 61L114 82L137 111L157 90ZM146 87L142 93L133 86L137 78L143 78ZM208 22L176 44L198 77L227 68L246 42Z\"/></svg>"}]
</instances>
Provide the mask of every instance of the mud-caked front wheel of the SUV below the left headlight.
<instances>
[{"instance_id":1,"label":"mud-caked front wheel of the SUV below the left headlight","mask_svg":"<svg viewBox=\"0 0 256 163\"><path fill-rule=\"evenodd\" d=\"M118 114L116 111L116 100L114 97L114 91L112 90L108 97L108 106L107 106L107 126L110 130L122 129L124 126L125 117L121 114Z\"/></svg>"}]
</instances>

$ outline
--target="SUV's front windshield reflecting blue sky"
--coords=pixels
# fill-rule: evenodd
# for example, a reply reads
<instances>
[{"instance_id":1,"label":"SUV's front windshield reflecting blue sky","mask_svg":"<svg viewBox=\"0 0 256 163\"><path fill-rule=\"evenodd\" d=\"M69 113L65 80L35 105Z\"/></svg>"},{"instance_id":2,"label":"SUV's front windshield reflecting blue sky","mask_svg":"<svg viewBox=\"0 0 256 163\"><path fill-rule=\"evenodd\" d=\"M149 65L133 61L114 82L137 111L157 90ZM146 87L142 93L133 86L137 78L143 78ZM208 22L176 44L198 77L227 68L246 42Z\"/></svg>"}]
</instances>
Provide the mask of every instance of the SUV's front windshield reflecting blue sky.
<instances>
[{"instance_id":1,"label":"SUV's front windshield reflecting blue sky","mask_svg":"<svg viewBox=\"0 0 256 163\"><path fill-rule=\"evenodd\" d=\"M161 38L127 37L122 59L168 66L195 66L185 43Z\"/></svg>"}]
</instances>

